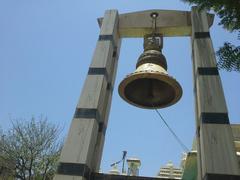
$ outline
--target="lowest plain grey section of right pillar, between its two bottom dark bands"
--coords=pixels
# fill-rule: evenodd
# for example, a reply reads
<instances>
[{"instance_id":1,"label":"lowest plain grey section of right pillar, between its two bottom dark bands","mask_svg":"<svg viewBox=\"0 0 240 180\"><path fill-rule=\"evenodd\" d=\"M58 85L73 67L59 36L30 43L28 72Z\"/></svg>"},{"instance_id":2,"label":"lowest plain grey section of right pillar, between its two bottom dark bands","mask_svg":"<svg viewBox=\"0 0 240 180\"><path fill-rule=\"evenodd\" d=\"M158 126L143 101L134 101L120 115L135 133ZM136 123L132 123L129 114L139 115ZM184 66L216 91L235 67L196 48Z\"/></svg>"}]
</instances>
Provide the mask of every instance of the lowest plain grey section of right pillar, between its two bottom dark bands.
<instances>
[{"instance_id":1,"label":"lowest plain grey section of right pillar, between its two bottom dark bands","mask_svg":"<svg viewBox=\"0 0 240 180\"><path fill-rule=\"evenodd\" d=\"M200 139L203 172L239 175L230 125L202 124Z\"/></svg>"}]
</instances>

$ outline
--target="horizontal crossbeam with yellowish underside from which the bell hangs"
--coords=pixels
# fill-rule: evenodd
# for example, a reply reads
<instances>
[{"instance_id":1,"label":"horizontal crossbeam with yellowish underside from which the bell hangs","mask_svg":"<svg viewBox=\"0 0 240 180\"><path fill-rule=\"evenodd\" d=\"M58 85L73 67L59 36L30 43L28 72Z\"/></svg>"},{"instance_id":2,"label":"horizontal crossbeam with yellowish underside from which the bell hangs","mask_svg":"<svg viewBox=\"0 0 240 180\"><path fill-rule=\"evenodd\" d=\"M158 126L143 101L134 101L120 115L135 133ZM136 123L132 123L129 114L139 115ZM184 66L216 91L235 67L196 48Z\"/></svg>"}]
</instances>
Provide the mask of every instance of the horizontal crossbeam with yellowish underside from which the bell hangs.
<instances>
[{"instance_id":1,"label":"horizontal crossbeam with yellowish underside from which the bell hangs","mask_svg":"<svg viewBox=\"0 0 240 180\"><path fill-rule=\"evenodd\" d=\"M191 36L192 22L190 11L152 9L119 15L118 30L121 38L143 37L152 32L152 12L158 13L157 33L166 37ZM208 14L209 27L213 24L214 15ZM101 27L103 18L98 18Z\"/></svg>"}]
</instances>

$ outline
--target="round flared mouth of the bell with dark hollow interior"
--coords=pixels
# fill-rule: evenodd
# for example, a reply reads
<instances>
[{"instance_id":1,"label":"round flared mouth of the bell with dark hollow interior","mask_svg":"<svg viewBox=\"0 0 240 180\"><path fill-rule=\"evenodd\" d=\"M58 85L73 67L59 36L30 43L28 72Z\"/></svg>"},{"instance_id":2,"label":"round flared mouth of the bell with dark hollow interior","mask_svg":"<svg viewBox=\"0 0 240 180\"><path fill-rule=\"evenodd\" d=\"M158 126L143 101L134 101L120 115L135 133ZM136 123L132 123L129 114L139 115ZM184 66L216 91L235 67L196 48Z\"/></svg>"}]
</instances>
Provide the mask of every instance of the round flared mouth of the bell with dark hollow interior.
<instances>
[{"instance_id":1,"label":"round flared mouth of the bell with dark hollow interior","mask_svg":"<svg viewBox=\"0 0 240 180\"><path fill-rule=\"evenodd\" d=\"M120 83L118 90L125 101L146 109L168 107L182 96L175 79L158 73L133 73Z\"/></svg>"}]
</instances>

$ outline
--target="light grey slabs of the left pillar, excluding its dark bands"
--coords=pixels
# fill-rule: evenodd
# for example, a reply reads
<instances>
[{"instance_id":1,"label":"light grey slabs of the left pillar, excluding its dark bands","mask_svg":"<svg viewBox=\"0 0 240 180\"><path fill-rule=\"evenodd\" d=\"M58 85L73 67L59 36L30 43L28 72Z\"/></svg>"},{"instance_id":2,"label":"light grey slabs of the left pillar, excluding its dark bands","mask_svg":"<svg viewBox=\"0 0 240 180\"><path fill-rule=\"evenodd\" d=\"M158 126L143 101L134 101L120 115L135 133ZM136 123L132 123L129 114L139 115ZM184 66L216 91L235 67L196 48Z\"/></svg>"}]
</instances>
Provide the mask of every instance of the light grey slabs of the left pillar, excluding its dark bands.
<instances>
[{"instance_id":1,"label":"light grey slabs of the left pillar, excluding its dark bands","mask_svg":"<svg viewBox=\"0 0 240 180\"><path fill-rule=\"evenodd\" d=\"M106 119L108 118L108 116L106 116L106 111L108 111L106 99L107 102L111 101L111 96L109 96L111 92L109 92L108 84L111 83L109 82L110 80L113 81L111 76L115 71L113 52L115 49L114 43L118 42L119 39L117 25L118 12L116 10L106 11L100 35L113 37L113 40L110 38L97 42L90 68L92 70L94 70L94 68L106 69L109 76L106 76L106 73L102 74L103 71L88 74L77 105L78 109L97 109L100 118L89 118L89 116L87 118L82 116L81 118L73 118L60 156L60 162L62 163L81 163L87 165L91 170L95 170L95 165L92 163L93 158L98 157L97 160L101 160L101 151L96 149L96 146L97 144L103 145L102 141L104 141L104 139L98 137L100 135L98 121L107 121ZM98 146L98 148L102 149L100 146ZM100 162L96 161L95 163L100 164ZM80 180L84 179L84 177L58 174L54 179Z\"/></svg>"}]
</instances>

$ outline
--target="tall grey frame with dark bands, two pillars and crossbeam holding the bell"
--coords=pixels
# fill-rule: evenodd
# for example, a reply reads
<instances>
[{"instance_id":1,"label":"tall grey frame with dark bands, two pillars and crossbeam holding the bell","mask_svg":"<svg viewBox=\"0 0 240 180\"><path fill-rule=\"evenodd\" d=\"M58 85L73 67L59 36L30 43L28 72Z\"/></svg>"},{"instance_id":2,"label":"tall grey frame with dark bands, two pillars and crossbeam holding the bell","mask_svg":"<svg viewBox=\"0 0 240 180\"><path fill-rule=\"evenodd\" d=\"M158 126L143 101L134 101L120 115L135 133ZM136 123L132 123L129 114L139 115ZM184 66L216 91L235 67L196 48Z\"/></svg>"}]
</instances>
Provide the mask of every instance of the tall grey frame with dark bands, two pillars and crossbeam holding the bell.
<instances>
[{"instance_id":1,"label":"tall grey frame with dark bands, two pillars and crossbeam holding the bell","mask_svg":"<svg viewBox=\"0 0 240 180\"><path fill-rule=\"evenodd\" d=\"M157 33L192 38L199 179L240 177L209 33L214 16L194 7L191 12L155 9L121 15L117 10L107 10L98 19L99 39L55 180L91 179L93 172L99 171L121 38L151 32L152 12L159 14ZM95 173L95 177L106 176Z\"/></svg>"}]
</instances>

